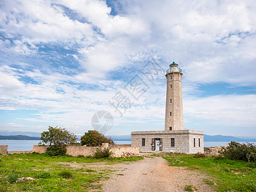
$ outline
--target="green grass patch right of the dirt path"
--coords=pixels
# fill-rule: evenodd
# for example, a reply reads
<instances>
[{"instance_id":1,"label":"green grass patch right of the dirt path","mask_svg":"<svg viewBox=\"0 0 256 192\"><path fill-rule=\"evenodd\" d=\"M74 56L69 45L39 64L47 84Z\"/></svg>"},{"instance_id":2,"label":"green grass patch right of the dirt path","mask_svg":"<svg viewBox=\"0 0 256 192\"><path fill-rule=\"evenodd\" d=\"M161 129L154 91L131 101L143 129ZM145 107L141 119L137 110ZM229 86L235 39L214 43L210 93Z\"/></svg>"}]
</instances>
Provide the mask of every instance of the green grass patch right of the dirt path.
<instances>
[{"instance_id":1,"label":"green grass patch right of the dirt path","mask_svg":"<svg viewBox=\"0 0 256 192\"><path fill-rule=\"evenodd\" d=\"M205 183L217 191L256 191L256 167L244 161L194 158L186 154L162 154L162 157L170 166L185 166L207 173L212 179L204 179Z\"/></svg>"}]
</instances>

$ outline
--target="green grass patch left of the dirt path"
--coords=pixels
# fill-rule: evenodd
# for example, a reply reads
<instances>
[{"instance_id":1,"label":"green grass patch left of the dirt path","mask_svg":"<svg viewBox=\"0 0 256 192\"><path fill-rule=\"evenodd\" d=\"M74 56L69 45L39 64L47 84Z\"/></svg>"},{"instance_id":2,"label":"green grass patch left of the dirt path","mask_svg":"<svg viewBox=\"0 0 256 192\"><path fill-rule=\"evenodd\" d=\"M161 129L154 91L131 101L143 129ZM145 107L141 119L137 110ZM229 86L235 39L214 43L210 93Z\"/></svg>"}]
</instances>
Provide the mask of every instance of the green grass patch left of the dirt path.
<instances>
[{"instance_id":1,"label":"green grass patch left of the dirt path","mask_svg":"<svg viewBox=\"0 0 256 192\"><path fill-rule=\"evenodd\" d=\"M137 161L143 157L104 158L48 157L44 154L0 155L0 191L89 191L100 190L99 180L108 179L113 170L91 168L87 163L105 164ZM21 177L38 180L17 182Z\"/></svg>"}]
</instances>

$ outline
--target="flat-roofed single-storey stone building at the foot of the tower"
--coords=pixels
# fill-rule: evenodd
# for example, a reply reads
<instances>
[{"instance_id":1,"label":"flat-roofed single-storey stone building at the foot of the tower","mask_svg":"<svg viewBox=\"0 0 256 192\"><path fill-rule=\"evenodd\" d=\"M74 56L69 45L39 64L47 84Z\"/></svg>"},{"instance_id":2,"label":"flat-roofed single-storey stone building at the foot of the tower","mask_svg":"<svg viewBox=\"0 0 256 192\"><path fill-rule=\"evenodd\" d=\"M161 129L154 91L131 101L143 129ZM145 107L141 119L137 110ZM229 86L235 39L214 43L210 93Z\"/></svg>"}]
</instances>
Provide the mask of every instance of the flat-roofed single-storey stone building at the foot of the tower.
<instances>
[{"instance_id":1,"label":"flat-roofed single-storey stone building at the foot of the tower","mask_svg":"<svg viewBox=\"0 0 256 192\"><path fill-rule=\"evenodd\" d=\"M144 142L142 141L144 139ZM175 146L171 146L174 139ZM139 147L141 152L157 152L155 141L160 141L160 152L184 154L203 153L203 132L192 130L176 131L135 131L132 132L132 147ZM144 145L144 146L142 146Z\"/></svg>"}]
</instances>

